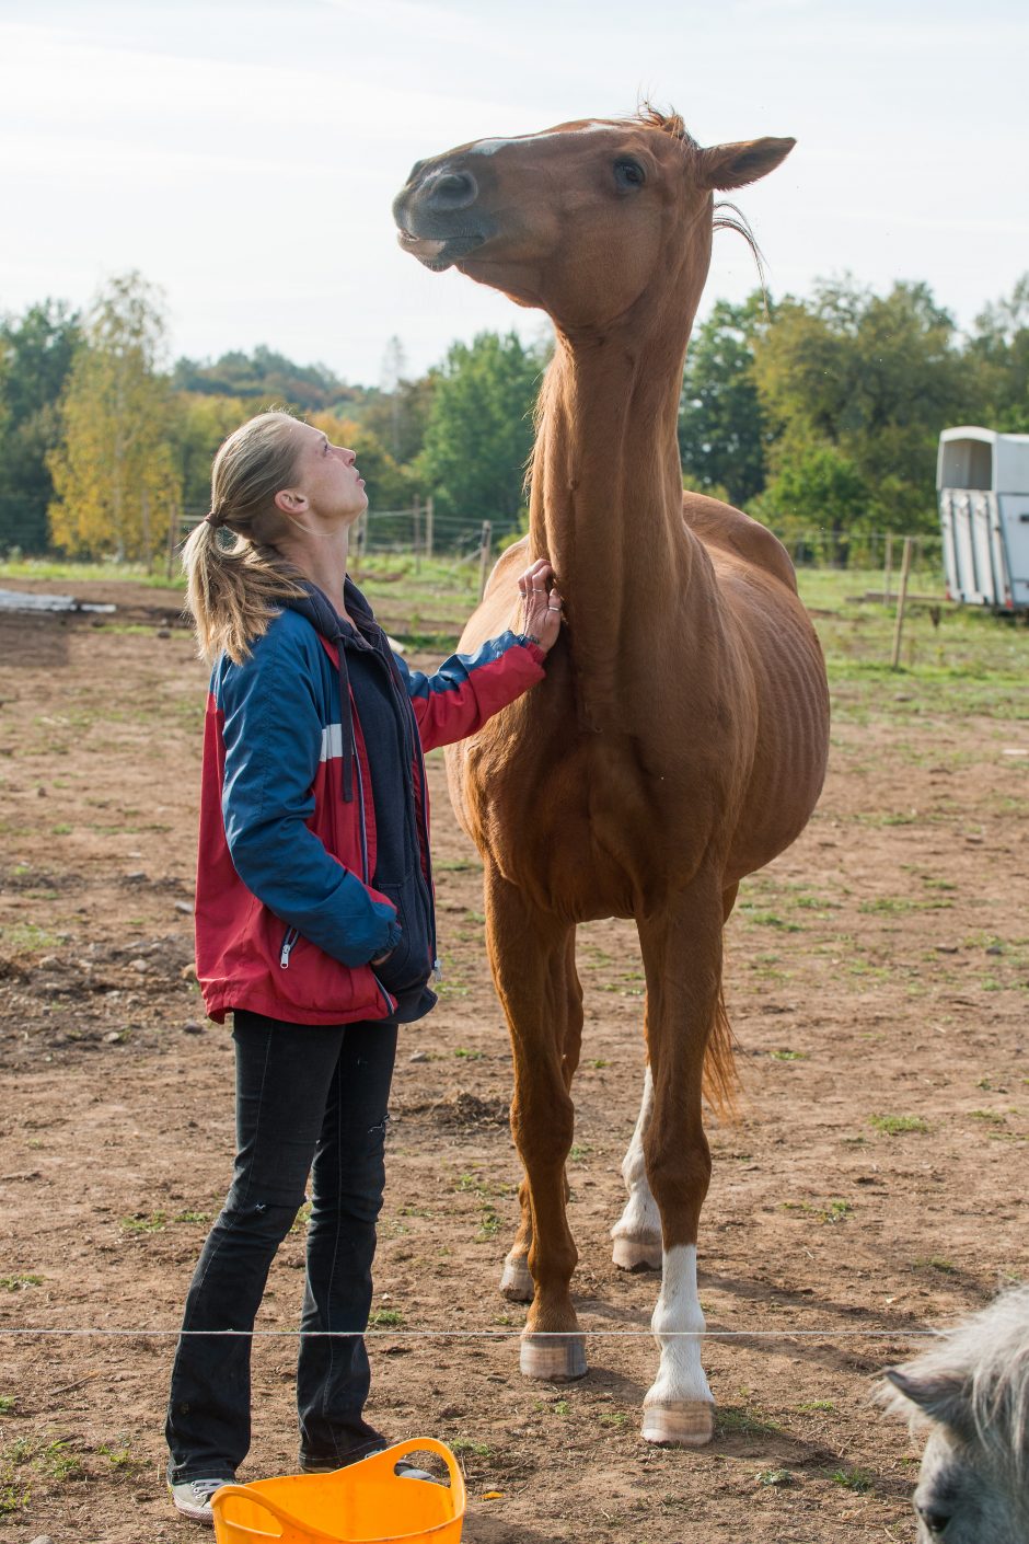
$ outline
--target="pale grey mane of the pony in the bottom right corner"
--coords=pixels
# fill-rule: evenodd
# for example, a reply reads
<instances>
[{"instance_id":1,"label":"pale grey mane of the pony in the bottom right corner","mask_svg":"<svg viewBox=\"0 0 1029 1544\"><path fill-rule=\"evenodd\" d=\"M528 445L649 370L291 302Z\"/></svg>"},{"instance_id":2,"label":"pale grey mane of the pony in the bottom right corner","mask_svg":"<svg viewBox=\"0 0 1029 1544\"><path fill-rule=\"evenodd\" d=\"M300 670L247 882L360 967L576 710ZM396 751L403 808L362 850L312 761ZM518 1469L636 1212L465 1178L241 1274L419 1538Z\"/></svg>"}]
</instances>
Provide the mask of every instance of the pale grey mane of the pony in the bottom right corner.
<instances>
[{"instance_id":1,"label":"pale grey mane of the pony in the bottom right corner","mask_svg":"<svg viewBox=\"0 0 1029 1544\"><path fill-rule=\"evenodd\" d=\"M1029 1465L1029 1283L946 1331L940 1345L898 1368L923 1387L950 1388L964 1402L978 1442L997 1467L1024 1479ZM912 1430L933 1417L890 1383L876 1399ZM930 1400L932 1403L932 1400Z\"/></svg>"}]
</instances>

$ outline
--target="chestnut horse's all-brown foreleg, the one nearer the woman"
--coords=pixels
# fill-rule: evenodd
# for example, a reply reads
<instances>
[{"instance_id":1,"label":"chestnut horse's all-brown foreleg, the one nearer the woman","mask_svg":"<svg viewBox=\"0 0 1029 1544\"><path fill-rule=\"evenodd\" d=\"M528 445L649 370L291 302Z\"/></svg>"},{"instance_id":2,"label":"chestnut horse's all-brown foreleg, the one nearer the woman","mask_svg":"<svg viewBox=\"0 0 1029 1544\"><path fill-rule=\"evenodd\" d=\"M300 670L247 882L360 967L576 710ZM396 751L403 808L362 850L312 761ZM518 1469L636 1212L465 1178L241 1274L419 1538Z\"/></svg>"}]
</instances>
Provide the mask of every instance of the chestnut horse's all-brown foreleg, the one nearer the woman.
<instances>
[{"instance_id":1,"label":"chestnut horse's all-brown foreleg, the one nearer the woman","mask_svg":"<svg viewBox=\"0 0 1029 1544\"><path fill-rule=\"evenodd\" d=\"M521 1371L531 1377L582 1377L586 1359L569 1292L579 1255L565 1212L565 1161L574 1124L568 1089L582 1028L574 934L568 923L531 905L492 866L484 888L489 962L514 1051L511 1130L526 1172L523 1221L504 1280L517 1285L523 1246L535 1283L521 1339Z\"/></svg>"}]
</instances>

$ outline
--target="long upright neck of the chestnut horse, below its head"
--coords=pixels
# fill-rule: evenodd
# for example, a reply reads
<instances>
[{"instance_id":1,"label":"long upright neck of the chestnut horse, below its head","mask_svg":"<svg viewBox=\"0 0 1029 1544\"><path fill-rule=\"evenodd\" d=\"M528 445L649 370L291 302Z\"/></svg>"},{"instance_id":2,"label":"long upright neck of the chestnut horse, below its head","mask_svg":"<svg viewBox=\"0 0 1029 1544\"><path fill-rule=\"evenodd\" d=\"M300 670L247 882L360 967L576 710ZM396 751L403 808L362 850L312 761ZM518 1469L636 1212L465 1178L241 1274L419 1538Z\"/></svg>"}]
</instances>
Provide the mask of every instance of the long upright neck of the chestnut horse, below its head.
<instances>
[{"instance_id":1,"label":"long upright neck of the chestnut horse, below its head","mask_svg":"<svg viewBox=\"0 0 1029 1544\"><path fill-rule=\"evenodd\" d=\"M622 723L665 647L690 648L708 567L682 520L676 426L685 337L558 337L543 397L529 533L569 621L580 716ZM696 604L694 604L696 602ZM665 672L662 672L665 675Z\"/></svg>"}]
</instances>

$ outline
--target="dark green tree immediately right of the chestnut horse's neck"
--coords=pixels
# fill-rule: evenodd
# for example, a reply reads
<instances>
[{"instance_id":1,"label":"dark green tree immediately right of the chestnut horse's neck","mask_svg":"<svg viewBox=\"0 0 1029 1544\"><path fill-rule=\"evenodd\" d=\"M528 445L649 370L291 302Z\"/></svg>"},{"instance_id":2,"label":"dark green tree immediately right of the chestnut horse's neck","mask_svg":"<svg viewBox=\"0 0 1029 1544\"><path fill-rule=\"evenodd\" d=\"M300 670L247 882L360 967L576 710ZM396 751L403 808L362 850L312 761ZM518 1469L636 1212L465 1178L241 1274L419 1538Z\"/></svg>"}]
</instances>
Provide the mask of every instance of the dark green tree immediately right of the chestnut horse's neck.
<instances>
[{"instance_id":1,"label":"dark green tree immediately right of the chestnut horse's neck","mask_svg":"<svg viewBox=\"0 0 1029 1544\"><path fill-rule=\"evenodd\" d=\"M720 300L687 354L679 406L683 482L736 505L765 485L771 432L754 380L754 343L767 326L761 290L742 306Z\"/></svg>"}]
</instances>

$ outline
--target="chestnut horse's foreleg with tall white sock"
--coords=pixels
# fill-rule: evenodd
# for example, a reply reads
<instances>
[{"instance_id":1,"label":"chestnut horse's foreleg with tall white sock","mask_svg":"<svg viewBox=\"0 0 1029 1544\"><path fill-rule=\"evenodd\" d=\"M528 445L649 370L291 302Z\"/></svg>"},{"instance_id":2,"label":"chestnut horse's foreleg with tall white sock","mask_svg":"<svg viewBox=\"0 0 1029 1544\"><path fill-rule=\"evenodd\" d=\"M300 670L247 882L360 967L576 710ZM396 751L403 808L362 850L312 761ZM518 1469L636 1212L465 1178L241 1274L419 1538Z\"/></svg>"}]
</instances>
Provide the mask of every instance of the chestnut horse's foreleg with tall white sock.
<instances>
[{"instance_id":1,"label":"chestnut horse's foreleg with tall white sock","mask_svg":"<svg viewBox=\"0 0 1029 1544\"><path fill-rule=\"evenodd\" d=\"M700 1089L722 977L722 906L696 886L640 922L646 1033L654 1081L643 1133L646 1177L662 1221L662 1286L651 1326L660 1366L643 1400L643 1437L696 1447L710 1441L714 1405L700 1362L697 1224L711 1178Z\"/></svg>"}]
</instances>

